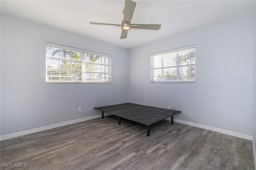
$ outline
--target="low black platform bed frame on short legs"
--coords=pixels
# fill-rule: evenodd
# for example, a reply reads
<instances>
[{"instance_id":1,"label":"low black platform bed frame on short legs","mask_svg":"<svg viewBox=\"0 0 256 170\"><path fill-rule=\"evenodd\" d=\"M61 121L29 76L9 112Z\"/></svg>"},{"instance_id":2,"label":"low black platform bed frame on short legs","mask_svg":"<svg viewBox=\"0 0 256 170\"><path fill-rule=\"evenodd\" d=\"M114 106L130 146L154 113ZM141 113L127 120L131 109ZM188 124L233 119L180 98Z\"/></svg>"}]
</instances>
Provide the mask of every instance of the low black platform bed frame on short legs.
<instances>
[{"instance_id":1,"label":"low black platform bed frame on short legs","mask_svg":"<svg viewBox=\"0 0 256 170\"><path fill-rule=\"evenodd\" d=\"M102 111L102 119L104 119L104 112L118 116L118 125L121 124L121 118L146 125L148 127L147 136L150 136L151 125L168 117L171 117L171 123L173 124L173 116L181 113L181 111L176 111L174 108L162 109L134 103L95 107L94 109Z\"/></svg>"}]
</instances>

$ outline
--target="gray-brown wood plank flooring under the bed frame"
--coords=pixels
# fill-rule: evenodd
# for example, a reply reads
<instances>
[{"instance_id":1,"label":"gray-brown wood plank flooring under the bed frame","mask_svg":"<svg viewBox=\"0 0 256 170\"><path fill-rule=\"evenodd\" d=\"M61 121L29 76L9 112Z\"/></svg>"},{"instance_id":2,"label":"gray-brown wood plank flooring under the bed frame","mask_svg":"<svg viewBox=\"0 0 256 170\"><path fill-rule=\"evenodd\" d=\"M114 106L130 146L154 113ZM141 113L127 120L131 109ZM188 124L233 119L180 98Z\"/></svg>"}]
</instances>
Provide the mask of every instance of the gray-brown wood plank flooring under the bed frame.
<instances>
[{"instance_id":1,"label":"gray-brown wood plank flooring under the bed frame","mask_svg":"<svg viewBox=\"0 0 256 170\"><path fill-rule=\"evenodd\" d=\"M254 170L252 141L162 121L147 127L115 116L0 142L1 163L26 170ZM2 165L2 164L1 164ZM13 169L0 167L1 169Z\"/></svg>"}]
</instances>

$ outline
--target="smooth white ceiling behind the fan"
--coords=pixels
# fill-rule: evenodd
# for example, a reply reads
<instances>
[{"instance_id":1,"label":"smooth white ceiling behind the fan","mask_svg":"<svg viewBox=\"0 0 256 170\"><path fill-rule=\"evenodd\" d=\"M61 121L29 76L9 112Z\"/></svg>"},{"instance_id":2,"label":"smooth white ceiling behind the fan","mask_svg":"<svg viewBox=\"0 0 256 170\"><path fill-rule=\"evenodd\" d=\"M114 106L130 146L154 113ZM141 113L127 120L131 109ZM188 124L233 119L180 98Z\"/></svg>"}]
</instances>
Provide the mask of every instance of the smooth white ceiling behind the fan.
<instances>
[{"instance_id":1,"label":"smooth white ceiling behind the fan","mask_svg":"<svg viewBox=\"0 0 256 170\"><path fill-rule=\"evenodd\" d=\"M134 24L161 24L160 30L131 29L120 40L122 29L89 22L121 24L124 0L1 0L1 12L126 49L254 12L251 1L134 0Z\"/></svg>"}]
</instances>

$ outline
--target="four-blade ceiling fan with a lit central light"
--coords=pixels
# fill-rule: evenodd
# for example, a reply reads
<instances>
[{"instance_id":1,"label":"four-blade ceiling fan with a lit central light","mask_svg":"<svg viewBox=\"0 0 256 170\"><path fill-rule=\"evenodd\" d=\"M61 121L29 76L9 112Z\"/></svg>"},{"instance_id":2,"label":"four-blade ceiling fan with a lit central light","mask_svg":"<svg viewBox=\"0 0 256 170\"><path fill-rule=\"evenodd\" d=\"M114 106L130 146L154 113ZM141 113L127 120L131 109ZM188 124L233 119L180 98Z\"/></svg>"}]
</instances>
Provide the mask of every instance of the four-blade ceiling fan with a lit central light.
<instances>
[{"instance_id":1,"label":"four-blade ceiling fan with a lit central light","mask_svg":"<svg viewBox=\"0 0 256 170\"><path fill-rule=\"evenodd\" d=\"M122 24L108 24L108 23L100 23L100 22L90 22L90 24L95 25L107 25L107 26L122 26L122 34L120 39L124 39L127 37L128 30L131 28L135 29L145 29L145 30L159 30L161 24L131 24L132 15L136 6L136 2L132 0L125 0L124 3L124 20L122 20Z\"/></svg>"}]
</instances>

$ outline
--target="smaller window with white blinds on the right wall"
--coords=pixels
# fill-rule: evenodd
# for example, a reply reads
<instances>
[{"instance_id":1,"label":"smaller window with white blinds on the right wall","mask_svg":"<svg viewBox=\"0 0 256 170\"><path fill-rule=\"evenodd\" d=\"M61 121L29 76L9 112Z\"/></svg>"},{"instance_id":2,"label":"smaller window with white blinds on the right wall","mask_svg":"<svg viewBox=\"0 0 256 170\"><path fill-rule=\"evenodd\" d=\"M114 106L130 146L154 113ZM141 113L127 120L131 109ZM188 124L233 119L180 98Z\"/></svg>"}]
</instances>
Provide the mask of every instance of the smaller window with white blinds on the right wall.
<instances>
[{"instance_id":1,"label":"smaller window with white blinds on the right wall","mask_svg":"<svg viewBox=\"0 0 256 170\"><path fill-rule=\"evenodd\" d=\"M151 83L195 82L196 45L151 54Z\"/></svg>"}]
</instances>

